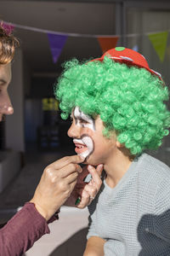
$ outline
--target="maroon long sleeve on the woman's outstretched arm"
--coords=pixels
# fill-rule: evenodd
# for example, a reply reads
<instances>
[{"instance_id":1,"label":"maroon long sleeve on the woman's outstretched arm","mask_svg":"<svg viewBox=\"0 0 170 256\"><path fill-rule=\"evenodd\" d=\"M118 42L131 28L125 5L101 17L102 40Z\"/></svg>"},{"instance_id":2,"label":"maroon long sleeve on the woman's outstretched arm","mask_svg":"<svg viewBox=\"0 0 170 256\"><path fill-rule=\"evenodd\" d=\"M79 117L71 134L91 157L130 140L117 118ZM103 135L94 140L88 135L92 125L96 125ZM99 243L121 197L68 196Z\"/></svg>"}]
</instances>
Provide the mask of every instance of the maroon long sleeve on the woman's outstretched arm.
<instances>
[{"instance_id":1,"label":"maroon long sleeve on the woman's outstretched arm","mask_svg":"<svg viewBox=\"0 0 170 256\"><path fill-rule=\"evenodd\" d=\"M22 255L48 233L46 219L37 212L33 203L27 202L0 230L0 256Z\"/></svg>"}]
</instances>

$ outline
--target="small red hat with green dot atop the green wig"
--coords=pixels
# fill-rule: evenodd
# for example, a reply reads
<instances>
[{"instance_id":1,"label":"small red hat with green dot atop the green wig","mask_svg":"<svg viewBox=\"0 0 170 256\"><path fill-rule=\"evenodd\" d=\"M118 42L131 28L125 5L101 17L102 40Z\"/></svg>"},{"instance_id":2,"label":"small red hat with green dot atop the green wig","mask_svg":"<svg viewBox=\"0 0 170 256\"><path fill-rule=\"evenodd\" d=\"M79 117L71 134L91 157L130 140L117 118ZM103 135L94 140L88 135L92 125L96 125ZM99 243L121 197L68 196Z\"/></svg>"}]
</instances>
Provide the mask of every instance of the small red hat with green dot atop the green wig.
<instances>
[{"instance_id":1,"label":"small red hat with green dot atop the green wig","mask_svg":"<svg viewBox=\"0 0 170 256\"><path fill-rule=\"evenodd\" d=\"M154 74L158 76L159 79L161 79L161 74L157 73L153 69L150 69L148 62L146 61L144 56L140 55L139 52L133 49L128 49L124 47L116 47L114 49L109 49L100 58L94 59L92 61L103 61L105 56L113 59L114 61L126 63L127 66L143 67L146 70L148 70L151 74Z\"/></svg>"}]
</instances>

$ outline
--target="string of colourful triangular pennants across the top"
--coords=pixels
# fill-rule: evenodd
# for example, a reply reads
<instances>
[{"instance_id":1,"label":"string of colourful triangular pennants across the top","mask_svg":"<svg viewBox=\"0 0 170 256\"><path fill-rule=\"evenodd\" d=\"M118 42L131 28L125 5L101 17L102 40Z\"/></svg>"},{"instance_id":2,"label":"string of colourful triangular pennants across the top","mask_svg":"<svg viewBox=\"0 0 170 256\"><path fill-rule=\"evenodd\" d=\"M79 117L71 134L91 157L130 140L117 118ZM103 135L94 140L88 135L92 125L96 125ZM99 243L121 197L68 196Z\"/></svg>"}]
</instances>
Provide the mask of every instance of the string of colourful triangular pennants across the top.
<instances>
[{"instance_id":1,"label":"string of colourful triangular pennants across the top","mask_svg":"<svg viewBox=\"0 0 170 256\"><path fill-rule=\"evenodd\" d=\"M89 35L89 34L78 34L78 33L65 33L65 32L54 32L48 31L44 29L39 29L31 26L22 26L19 24L9 23L6 21L2 21L1 25L4 29L10 33L13 32L14 28L21 28L26 30L31 30L34 32L43 32L48 36L49 47L51 50L52 58L54 63L56 63L59 59L59 55L62 52L62 49L65 46L65 42L68 37L82 37L82 38L96 38L99 42L99 46L102 49L102 52L105 53L106 50L115 48L118 42L118 39L121 38L120 35ZM165 32L150 32L145 33L144 35L148 36L150 40L150 44L152 44L153 48L156 50L156 54L158 55L161 62L164 61L165 53L167 49L167 53L170 56L170 45L167 46L167 37L169 31ZM126 37L138 37L141 34L127 34ZM134 50L138 51L138 45L134 45Z\"/></svg>"}]
</instances>

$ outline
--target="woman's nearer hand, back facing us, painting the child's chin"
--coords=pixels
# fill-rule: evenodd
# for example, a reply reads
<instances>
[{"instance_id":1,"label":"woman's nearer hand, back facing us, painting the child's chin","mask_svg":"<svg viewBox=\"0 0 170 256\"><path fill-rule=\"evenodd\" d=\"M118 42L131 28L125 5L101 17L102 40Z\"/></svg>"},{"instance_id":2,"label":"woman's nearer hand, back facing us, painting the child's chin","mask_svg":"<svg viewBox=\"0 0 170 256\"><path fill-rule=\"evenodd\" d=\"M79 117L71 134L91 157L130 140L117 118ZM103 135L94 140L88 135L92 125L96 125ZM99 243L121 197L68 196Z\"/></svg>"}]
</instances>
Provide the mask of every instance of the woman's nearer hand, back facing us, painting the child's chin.
<instances>
[{"instance_id":1,"label":"woman's nearer hand, back facing us, painting the child's chin","mask_svg":"<svg viewBox=\"0 0 170 256\"><path fill-rule=\"evenodd\" d=\"M79 155L66 156L45 168L31 202L46 220L51 218L71 195L78 174L82 172L78 164L83 160Z\"/></svg>"}]
</instances>

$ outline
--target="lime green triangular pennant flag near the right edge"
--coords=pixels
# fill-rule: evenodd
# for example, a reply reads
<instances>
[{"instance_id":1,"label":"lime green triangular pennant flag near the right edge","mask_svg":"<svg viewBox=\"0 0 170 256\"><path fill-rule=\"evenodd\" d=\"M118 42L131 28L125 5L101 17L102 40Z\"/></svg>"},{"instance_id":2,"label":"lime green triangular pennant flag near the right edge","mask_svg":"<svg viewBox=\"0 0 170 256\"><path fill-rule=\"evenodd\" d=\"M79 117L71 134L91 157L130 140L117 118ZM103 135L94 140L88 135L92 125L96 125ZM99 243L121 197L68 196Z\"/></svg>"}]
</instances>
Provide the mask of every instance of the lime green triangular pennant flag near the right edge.
<instances>
[{"instance_id":1,"label":"lime green triangular pennant flag near the right edge","mask_svg":"<svg viewBox=\"0 0 170 256\"><path fill-rule=\"evenodd\" d=\"M156 34L149 35L150 42L153 45L154 49L156 50L156 53L159 56L161 62L163 62L165 57L167 35L168 32L159 32Z\"/></svg>"}]
</instances>

